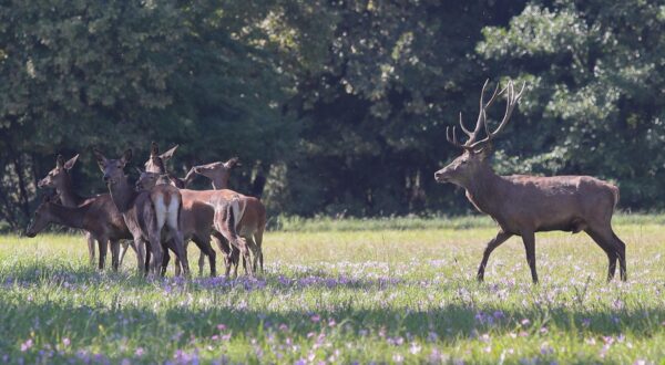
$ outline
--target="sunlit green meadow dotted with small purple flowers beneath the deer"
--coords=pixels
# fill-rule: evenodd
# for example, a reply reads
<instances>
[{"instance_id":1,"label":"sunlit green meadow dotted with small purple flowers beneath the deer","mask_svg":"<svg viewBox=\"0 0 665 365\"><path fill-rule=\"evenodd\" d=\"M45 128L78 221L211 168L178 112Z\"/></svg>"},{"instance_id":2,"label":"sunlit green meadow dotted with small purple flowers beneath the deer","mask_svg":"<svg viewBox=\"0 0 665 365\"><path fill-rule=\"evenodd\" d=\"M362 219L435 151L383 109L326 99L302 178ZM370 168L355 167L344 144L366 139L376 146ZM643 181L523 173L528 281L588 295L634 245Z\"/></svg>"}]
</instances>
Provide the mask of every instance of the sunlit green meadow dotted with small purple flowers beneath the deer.
<instances>
[{"instance_id":1,"label":"sunlit green meadow dotted with small purple flowers beneath the deer","mask_svg":"<svg viewBox=\"0 0 665 365\"><path fill-rule=\"evenodd\" d=\"M583 233L539 234L535 286L515 238L474 281L485 226L268 232L264 278L235 281L146 280L132 253L99 272L80 234L6 236L0 362L658 363L659 219L618 217L627 283Z\"/></svg>"}]
</instances>

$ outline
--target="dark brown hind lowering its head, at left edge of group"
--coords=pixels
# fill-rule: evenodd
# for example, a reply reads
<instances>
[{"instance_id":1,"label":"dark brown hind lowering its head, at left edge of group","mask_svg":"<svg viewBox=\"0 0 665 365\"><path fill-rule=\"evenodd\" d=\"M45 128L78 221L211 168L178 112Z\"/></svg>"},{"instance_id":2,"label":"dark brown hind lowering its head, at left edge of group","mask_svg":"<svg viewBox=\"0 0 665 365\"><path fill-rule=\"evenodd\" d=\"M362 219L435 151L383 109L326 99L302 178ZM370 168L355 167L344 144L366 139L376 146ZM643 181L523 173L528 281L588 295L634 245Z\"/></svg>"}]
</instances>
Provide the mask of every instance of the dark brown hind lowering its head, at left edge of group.
<instances>
[{"instance_id":1,"label":"dark brown hind lowering its head, at left edge of group","mask_svg":"<svg viewBox=\"0 0 665 365\"><path fill-rule=\"evenodd\" d=\"M99 269L104 269L106 247L111 242L111 263L113 270L117 271L120 240L132 238L122 217L120 220L109 217L109 210L102 199L90 199L78 207L61 206L54 200L55 198L44 197L42 204L34 211L34 218L25 230L25 236L35 237L50 223L84 229L100 243ZM136 250L133 243L131 246Z\"/></svg>"}]
</instances>

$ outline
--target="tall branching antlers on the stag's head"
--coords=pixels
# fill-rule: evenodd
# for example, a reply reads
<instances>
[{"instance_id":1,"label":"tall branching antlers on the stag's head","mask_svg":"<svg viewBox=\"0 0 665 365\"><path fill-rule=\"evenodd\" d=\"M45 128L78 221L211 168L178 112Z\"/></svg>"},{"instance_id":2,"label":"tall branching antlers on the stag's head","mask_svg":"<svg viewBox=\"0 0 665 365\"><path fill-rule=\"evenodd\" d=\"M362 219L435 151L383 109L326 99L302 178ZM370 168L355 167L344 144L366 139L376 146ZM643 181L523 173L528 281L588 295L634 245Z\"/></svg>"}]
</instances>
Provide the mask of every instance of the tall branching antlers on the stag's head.
<instances>
[{"instance_id":1,"label":"tall branching antlers on the stag's head","mask_svg":"<svg viewBox=\"0 0 665 365\"><path fill-rule=\"evenodd\" d=\"M512 111L514 109L515 105L519 103L520 97L522 97L522 93L524 92L524 86L526 85L526 83L523 83L520 92L515 94L512 81L509 81L508 85L505 87L503 87L501 91L499 91L499 84L497 84L497 87L494 88L494 93L492 93L492 97L490 97L490 100L485 103L484 102L484 93L485 93L489 82L490 81L487 80L485 83L482 85L482 91L480 93L480 112L478 113L478 121L475 122L475 128L473 128L473 132L470 132L464 126L464 123L462 122L462 113L460 113L460 127L461 127L462 132L469 137L469 139L467 139L467 142L464 144L460 144L457 139L456 127L452 127L452 134L450 133L450 128L448 128L448 127L446 128L446 138L453 146L460 147L460 148L463 148L467 150L472 150L482 144L487 144L487 143L491 142L497 136L497 134L499 134L501 131L503 131L503 128L508 124L508 121L510 119ZM488 122L487 122L487 119L488 119L487 109L490 106L492 106L492 104L494 104L497 96L502 95L505 92L508 92L507 104L505 104L505 114L503 115L503 119L501 121L501 124L499 125L499 127L494 132L490 132L490 129L488 127ZM477 140L478 135L480 134L481 129L485 131L487 137L484 139Z\"/></svg>"}]
</instances>

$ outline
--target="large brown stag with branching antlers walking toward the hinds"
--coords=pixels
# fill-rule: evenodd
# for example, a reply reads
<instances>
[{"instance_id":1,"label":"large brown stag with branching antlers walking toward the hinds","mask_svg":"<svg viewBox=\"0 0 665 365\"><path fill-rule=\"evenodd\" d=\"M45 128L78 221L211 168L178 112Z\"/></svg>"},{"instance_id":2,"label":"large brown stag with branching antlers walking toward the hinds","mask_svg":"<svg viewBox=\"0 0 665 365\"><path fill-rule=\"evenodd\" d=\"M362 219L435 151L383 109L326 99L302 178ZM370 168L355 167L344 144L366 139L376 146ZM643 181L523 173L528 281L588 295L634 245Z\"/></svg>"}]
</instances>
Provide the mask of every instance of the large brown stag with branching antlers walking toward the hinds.
<instances>
[{"instance_id":1,"label":"large brown stag with branching antlers walking toward the hinds","mask_svg":"<svg viewBox=\"0 0 665 365\"><path fill-rule=\"evenodd\" d=\"M489 82L489 81L488 81ZM447 139L463 150L450 165L434 174L438 182L452 182L467 190L467 198L481 212L491 216L500 230L484 250L478 269L478 280L484 279L490 253L511 236L521 236L526 250L531 278L538 282L535 270L535 232L585 231L607 254L610 267L607 280L614 278L616 260L621 264L621 279L626 280L625 243L612 230L612 213L618 201L618 188L589 176L539 177L525 175L498 176L489 157L493 138L505 128L513 108L520 101L510 81L501 92L499 86L484 102L488 86L480 94L480 114L473 132L467 129L460 114L460 127L469 137L464 144L457 139L456 128L447 129ZM505 114L499 127L491 132L487 123L487 109L498 95L507 95ZM481 131L487 137L478 139Z\"/></svg>"}]
</instances>

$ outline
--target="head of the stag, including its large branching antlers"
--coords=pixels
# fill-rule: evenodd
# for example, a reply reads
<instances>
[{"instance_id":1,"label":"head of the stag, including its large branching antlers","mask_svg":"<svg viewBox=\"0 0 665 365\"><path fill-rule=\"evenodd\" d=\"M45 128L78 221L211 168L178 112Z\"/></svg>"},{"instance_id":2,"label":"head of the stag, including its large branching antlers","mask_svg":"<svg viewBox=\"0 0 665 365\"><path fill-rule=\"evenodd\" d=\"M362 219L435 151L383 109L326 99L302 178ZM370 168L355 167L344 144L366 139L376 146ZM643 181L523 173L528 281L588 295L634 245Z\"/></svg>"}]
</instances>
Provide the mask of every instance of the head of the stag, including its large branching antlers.
<instances>
[{"instance_id":1,"label":"head of the stag, including its large branching antlers","mask_svg":"<svg viewBox=\"0 0 665 365\"><path fill-rule=\"evenodd\" d=\"M469 137L469 139L461 144L457 139L457 128L446 128L446 137L448 142L453 146L461 148L463 152L462 155L452 160L452 163L450 163L448 166L434 173L434 179L437 182L452 182L454 185L464 187L468 186L474 178L478 178L481 169L487 166L485 161L492 152L492 140L499 133L501 133L501 131L503 131L503 128L505 128L505 125L508 124L515 105L518 105L520 97L522 97L525 85L522 84L520 92L515 93L512 81L509 81L508 85L501 91L499 91L498 84L497 88L494 88L494 93L485 103L484 94L488 83L489 80L485 81L480 93L480 112L478 114L478 121L475 122L475 128L473 128L473 131L470 131L464 126L464 123L462 122L462 114L460 113L460 128ZM497 127L494 132L491 132L487 122L487 111L500 95L505 95L507 98L505 114L503 115L503 119L501 121L501 124L499 124L499 127ZM483 129L485 137L479 140L478 137Z\"/></svg>"}]
</instances>

